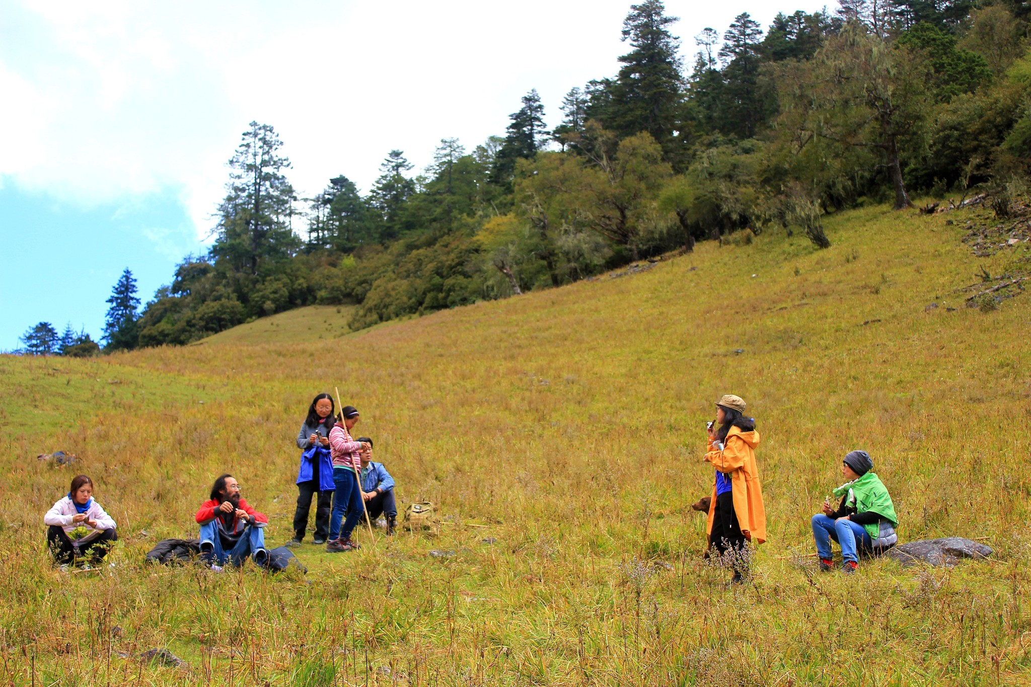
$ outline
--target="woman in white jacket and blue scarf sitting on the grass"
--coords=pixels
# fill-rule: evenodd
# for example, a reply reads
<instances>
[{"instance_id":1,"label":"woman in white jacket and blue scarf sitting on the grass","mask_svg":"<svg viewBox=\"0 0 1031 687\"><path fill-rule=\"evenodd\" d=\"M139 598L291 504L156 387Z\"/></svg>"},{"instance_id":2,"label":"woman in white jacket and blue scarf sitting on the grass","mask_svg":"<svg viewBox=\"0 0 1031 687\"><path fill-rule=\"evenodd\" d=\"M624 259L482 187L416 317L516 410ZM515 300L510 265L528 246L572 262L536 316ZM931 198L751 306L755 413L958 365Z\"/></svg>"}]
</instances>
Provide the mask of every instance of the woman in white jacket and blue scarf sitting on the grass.
<instances>
[{"instance_id":1,"label":"woman in white jacket and blue scarf sitting on the grass","mask_svg":"<svg viewBox=\"0 0 1031 687\"><path fill-rule=\"evenodd\" d=\"M114 520L93 500L93 480L78 475L71 489L43 516L46 544L58 563L97 563L118 541Z\"/></svg>"}]
</instances>

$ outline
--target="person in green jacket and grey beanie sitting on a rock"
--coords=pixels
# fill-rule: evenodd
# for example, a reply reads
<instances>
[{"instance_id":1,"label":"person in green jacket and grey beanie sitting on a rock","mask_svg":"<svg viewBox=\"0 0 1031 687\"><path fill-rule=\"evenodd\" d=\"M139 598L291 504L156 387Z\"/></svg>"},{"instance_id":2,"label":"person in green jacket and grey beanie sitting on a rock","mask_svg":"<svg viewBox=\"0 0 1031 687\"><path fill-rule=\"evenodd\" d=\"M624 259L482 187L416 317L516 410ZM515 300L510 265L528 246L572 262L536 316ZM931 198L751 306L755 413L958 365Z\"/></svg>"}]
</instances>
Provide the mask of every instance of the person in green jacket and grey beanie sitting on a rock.
<instances>
[{"instance_id":1,"label":"person in green jacket and grey beanie sitting on a rock","mask_svg":"<svg viewBox=\"0 0 1031 687\"><path fill-rule=\"evenodd\" d=\"M841 572L859 568L859 553L876 553L895 546L898 516L888 487L873 472L873 460L866 451L851 451L841 461L841 474L847 480L834 489L841 503L834 510L824 501L823 513L812 516L812 539L817 542L820 570L834 566L831 540L841 546Z\"/></svg>"}]
</instances>

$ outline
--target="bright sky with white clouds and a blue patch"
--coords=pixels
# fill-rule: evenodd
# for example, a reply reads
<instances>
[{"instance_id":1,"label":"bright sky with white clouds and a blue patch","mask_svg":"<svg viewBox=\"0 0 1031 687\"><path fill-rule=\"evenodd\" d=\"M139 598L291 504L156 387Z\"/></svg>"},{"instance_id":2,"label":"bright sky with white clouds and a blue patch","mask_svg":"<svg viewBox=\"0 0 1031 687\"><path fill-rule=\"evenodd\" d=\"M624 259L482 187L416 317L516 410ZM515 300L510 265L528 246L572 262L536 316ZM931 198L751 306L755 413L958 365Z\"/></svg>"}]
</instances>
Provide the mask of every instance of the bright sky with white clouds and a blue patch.
<instances>
[{"instance_id":1,"label":"bright sky with white clouds and a blue patch","mask_svg":"<svg viewBox=\"0 0 1031 687\"><path fill-rule=\"evenodd\" d=\"M0 349L40 320L96 337L129 267L144 302L203 249L226 161L275 127L300 196L363 192L392 148L503 134L536 88L610 76L630 2L19 2L0 0ZM671 0L685 63L705 27L823 2Z\"/></svg>"}]
</instances>

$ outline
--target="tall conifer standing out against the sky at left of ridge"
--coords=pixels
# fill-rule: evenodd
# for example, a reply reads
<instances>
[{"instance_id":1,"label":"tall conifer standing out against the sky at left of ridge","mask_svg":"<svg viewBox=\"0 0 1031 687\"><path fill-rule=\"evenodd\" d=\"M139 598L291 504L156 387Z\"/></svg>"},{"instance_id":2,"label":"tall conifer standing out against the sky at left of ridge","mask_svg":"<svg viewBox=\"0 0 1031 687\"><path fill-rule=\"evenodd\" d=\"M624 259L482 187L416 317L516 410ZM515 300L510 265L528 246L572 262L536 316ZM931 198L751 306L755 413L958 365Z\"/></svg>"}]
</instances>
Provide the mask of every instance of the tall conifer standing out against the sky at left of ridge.
<instances>
[{"instance_id":1,"label":"tall conifer standing out against the sky at left of ridge","mask_svg":"<svg viewBox=\"0 0 1031 687\"><path fill-rule=\"evenodd\" d=\"M284 175L290 160L275 130L252 122L229 161L227 195L219 206L211 254L236 272L258 274L259 265L289 256L297 247L291 224L297 196Z\"/></svg>"}]
</instances>

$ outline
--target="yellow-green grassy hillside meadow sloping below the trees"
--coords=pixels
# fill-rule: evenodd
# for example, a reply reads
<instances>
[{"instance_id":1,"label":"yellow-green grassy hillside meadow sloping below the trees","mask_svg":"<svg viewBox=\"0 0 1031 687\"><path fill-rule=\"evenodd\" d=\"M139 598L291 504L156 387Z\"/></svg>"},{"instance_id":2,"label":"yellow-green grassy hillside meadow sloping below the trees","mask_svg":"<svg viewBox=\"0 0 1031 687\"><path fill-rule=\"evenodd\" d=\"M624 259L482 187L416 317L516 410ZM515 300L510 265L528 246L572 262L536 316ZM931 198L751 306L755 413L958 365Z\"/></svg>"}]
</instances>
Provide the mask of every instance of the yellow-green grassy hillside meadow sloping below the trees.
<instances>
[{"instance_id":1,"label":"yellow-green grassy hillside meadow sloping below the trees","mask_svg":"<svg viewBox=\"0 0 1031 687\"><path fill-rule=\"evenodd\" d=\"M61 363L82 379L108 366L94 379L157 400L61 387L49 360L3 358L23 390L3 399L16 421L3 424L2 679L1026 684L1031 300L982 311L958 289L1027 244L974 257L970 214L950 226L867 208L830 217L823 251L783 234L709 242L639 274L338 339L236 330L233 345ZM401 501L439 504L439 534L358 533L364 548L335 556L306 545L304 579L140 563L158 539L194 531L224 470L270 515L269 542L289 539L293 438L334 385ZM770 530L739 588L702 560L689 508L711 485L704 421L726 392L749 401L763 437ZM93 415L65 421L64 406ZM36 462L41 434L82 456L119 521L101 576L46 562L41 516L72 473ZM979 538L997 557L816 573L809 517L853 448L873 456L903 539ZM119 654L153 647L191 672Z\"/></svg>"}]
</instances>

